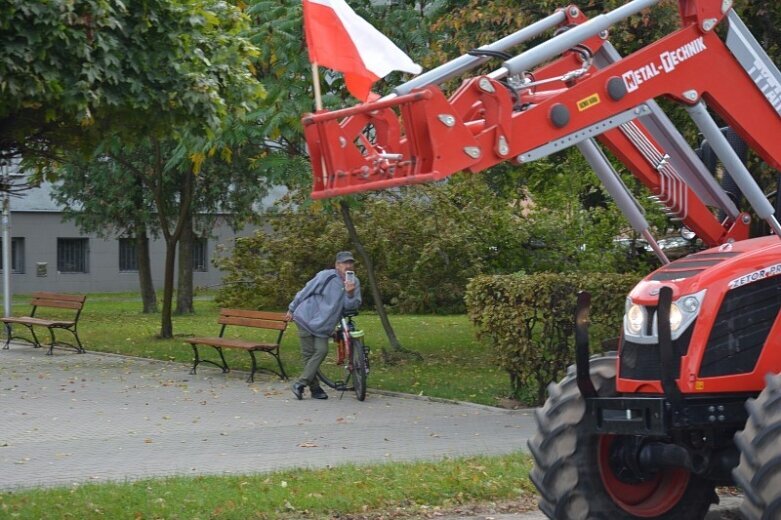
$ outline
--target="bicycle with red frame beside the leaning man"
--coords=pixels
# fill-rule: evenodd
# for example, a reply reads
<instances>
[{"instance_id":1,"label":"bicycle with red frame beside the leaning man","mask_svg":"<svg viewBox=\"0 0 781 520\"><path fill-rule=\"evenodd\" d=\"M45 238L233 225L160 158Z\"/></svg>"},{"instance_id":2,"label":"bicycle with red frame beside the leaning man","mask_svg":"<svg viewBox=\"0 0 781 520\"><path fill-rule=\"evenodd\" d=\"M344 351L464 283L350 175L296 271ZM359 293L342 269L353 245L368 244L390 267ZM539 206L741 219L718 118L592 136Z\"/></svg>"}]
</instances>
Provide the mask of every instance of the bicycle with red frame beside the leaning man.
<instances>
[{"instance_id":1,"label":"bicycle with red frame beside the leaning man","mask_svg":"<svg viewBox=\"0 0 781 520\"><path fill-rule=\"evenodd\" d=\"M363 344L363 331L356 330L353 317L357 315L358 311L348 311L339 320L333 335L336 349L329 351L320 364L317 377L342 394L354 390L355 397L363 401L369 373L369 347Z\"/></svg>"}]
</instances>

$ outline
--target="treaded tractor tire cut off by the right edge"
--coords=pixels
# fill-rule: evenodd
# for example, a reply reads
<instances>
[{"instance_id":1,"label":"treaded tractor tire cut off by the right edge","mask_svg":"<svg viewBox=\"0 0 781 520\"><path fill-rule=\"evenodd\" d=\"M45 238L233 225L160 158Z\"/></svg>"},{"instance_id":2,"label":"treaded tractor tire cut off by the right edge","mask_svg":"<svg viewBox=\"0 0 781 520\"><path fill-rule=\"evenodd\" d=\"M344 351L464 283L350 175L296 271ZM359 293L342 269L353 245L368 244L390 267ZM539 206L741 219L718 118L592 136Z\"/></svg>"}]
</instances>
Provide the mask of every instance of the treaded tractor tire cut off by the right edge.
<instances>
[{"instance_id":1,"label":"treaded tractor tire cut off by the right edge","mask_svg":"<svg viewBox=\"0 0 781 520\"><path fill-rule=\"evenodd\" d=\"M732 476L743 489L747 520L781 518L781 374L765 380L762 393L746 401L746 428L735 435L740 463Z\"/></svg>"}]
</instances>

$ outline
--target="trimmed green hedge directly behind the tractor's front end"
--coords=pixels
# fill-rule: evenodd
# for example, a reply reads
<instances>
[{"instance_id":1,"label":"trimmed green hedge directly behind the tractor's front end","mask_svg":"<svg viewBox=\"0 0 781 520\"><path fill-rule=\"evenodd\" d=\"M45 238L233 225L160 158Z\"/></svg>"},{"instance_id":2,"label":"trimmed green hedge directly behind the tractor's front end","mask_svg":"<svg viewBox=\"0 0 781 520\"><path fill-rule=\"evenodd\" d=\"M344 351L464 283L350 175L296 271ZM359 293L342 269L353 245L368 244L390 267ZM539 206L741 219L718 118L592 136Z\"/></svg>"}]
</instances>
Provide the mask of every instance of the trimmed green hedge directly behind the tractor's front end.
<instances>
[{"instance_id":1,"label":"trimmed green hedge directly behind the tractor's front end","mask_svg":"<svg viewBox=\"0 0 781 520\"><path fill-rule=\"evenodd\" d=\"M637 282L626 274L478 276L465 300L478 336L491 342L497 364L510 375L512 397L537 405L574 362L578 292L591 293L589 337L597 352L620 334L626 295Z\"/></svg>"}]
</instances>

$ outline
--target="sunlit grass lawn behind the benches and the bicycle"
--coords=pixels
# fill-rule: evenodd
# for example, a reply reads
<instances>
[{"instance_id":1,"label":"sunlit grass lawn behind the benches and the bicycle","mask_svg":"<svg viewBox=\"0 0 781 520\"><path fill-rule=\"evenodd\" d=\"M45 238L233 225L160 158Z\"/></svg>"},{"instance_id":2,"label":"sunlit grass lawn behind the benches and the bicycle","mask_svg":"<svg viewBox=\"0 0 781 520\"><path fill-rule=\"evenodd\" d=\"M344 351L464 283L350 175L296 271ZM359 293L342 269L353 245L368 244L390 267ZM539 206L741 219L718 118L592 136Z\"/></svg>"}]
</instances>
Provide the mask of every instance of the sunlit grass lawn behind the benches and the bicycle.
<instances>
[{"instance_id":1,"label":"sunlit grass lawn behind the benches and the bicycle","mask_svg":"<svg viewBox=\"0 0 781 520\"><path fill-rule=\"evenodd\" d=\"M15 298L13 312L29 312L28 301L25 297ZM195 308L194 315L174 316L176 337L161 340L156 337L160 331L160 315L143 314L137 295L90 295L79 322L79 336L90 351L192 363L192 349L181 338L216 336L220 330L217 324L219 306L210 295L196 299ZM418 352L423 359L401 359L393 364L385 363L381 350L388 349L389 343L380 320L372 312L362 313L355 321L366 332L365 343L373 351L370 358L370 389L487 405L496 405L497 399L509 393L507 374L494 366L490 348L477 341L474 328L466 316L401 315L391 316L390 320L402 345ZM235 330L240 331L239 336L257 338L256 329ZM68 334L61 334L62 339L67 341ZM268 339L275 338L272 331ZM211 355L208 347L201 347L200 350L202 357ZM286 371L289 375L296 375L301 366L295 325L285 333L281 350ZM249 356L245 352L227 351L226 357L231 368L249 370ZM274 360L262 353L258 355L258 361L275 366ZM188 369L183 366L182 370L184 372ZM216 369L201 365L198 370ZM259 377L273 376L261 374Z\"/></svg>"}]
</instances>

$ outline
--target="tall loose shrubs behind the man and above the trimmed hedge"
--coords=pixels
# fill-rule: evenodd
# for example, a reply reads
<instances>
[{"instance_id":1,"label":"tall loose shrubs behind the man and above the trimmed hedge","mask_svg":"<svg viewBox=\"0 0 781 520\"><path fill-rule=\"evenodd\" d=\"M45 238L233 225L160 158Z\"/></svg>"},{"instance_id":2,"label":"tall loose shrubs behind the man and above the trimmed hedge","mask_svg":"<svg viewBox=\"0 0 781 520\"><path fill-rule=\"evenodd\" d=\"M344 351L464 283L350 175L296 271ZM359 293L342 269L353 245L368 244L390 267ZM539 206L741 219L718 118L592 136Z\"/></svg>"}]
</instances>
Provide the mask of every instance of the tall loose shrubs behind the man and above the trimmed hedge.
<instances>
[{"instance_id":1,"label":"tall loose shrubs behind the man and above the trimmed hedge","mask_svg":"<svg viewBox=\"0 0 781 520\"><path fill-rule=\"evenodd\" d=\"M466 284L480 274L647 270L613 241L624 229L618 210L607 201L584 207L578 194L596 179L575 168L583 167L529 169L524 181L539 195L498 194L488 177L475 175L362 196L353 219L386 304L402 313L463 312ZM219 260L228 273L223 304L284 308L335 251L351 248L328 204L297 197L280 206L272 229L240 239ZM360 262L357 270L366 281Z\"/></svg>"}]
</instances>

